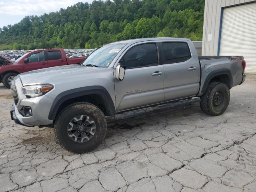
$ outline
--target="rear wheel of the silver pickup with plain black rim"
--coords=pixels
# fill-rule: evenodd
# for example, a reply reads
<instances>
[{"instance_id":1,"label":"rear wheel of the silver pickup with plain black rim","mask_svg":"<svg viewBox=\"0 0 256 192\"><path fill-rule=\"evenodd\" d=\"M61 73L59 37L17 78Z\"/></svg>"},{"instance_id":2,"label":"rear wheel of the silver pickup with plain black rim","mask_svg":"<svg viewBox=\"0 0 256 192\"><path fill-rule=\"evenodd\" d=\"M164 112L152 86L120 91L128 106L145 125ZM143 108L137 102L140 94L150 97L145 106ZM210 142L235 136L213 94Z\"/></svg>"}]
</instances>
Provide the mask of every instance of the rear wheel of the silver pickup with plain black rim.
<instances>
[{"instance_id":1,"label":"rear wheel of the silver pickup with plain black rim","mask_svg":"<svg viewBox=\"0 0 256 192\"><path fill-rule=\"evenodd\" d=\"M222 95L222 102L218 107L214 104L216 94ZM226 84L220 82L210 82L206 91L201 96L200 107L208 115L218 116L223 114L228 108L230 92Z\"/></svg>"}]
</instances>

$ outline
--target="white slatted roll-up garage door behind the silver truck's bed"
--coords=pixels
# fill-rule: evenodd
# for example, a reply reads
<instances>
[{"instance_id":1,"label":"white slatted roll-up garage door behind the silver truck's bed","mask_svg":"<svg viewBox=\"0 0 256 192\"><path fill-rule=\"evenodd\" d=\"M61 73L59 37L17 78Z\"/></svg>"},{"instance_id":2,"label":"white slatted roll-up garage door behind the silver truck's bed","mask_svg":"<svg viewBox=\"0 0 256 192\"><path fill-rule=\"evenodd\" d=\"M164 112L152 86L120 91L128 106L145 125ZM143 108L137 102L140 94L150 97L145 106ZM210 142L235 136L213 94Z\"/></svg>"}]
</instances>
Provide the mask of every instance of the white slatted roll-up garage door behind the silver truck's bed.
<instances>
[{"instance_id":1,"label":"white slatted roll-up garage door behind the silver truck's bed","mask_svg":"<svg viewBox=\"0 0 256 192\"><path fill-rule=\"evenodd\" d=\"M256 72L256 2L223 9L220 55L242 55Z\"/></svg>"}]
</instances>

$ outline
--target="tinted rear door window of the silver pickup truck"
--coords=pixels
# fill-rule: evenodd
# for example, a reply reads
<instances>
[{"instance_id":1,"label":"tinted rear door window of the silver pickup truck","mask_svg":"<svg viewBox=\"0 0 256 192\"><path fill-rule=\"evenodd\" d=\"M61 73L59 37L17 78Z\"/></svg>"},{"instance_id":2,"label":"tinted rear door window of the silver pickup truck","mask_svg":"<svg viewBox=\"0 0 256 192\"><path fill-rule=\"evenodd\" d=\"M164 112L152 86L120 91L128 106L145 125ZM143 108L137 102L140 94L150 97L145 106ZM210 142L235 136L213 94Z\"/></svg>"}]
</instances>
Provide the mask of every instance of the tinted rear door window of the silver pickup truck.
<instances>
[{"instance_id":1,"label":"tinted rear door window of the silver pickup truck","mask_svg":"<svg viewBox=\"0 0 256 192\"><path fill-rule=\"evenodd\" d=\"M164 42L165 64L184 62L191 58L188 44L185 42Z\"/></svg>"}]
</instances>

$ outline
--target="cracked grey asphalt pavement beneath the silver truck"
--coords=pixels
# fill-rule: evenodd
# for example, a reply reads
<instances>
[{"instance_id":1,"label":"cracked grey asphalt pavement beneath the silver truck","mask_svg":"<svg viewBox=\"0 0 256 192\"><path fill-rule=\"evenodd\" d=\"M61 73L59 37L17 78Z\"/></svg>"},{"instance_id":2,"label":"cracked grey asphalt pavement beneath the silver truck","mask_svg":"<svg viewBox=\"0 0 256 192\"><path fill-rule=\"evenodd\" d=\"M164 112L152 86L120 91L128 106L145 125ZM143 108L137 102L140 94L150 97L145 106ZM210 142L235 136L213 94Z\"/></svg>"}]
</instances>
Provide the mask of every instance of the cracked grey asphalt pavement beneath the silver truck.
<instances>
[{"instance_id":1,"label":"cracked grey asphalt pavement beneath the silver truck","mask_svg":"<svg viewBox=\"0 0 256 192\"><path fill-rule=\"evenodd\" d=\"M102 145L72 154L52 128L11 121L0 84L0 192L255 192L256 75L230 93L221 116L194 104L109 121Z\"/></svg>"}]
</instances>

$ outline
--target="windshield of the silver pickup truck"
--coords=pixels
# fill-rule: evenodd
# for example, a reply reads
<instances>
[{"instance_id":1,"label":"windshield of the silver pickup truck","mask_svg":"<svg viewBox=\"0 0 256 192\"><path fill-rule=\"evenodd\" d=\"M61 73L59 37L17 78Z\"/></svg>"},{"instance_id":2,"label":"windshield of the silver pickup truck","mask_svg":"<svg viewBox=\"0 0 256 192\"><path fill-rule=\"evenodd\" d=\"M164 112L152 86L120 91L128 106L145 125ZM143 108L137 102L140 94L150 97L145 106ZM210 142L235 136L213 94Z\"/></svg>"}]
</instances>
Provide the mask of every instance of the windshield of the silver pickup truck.
<instances>
[{"instance_id":1,"label":"windshield of the silver pickup truck","mask_svg":"<svg viewBox=\"0 0 256 192\"><path fill-rule=\"evenodd\" d=\"M104 45L94 52L92 52L86 60L82 63L84 66L98 66L98 67L108 67L115 56L122 50L126 44L108 44Z\"/></svg>"}]
</instances>

